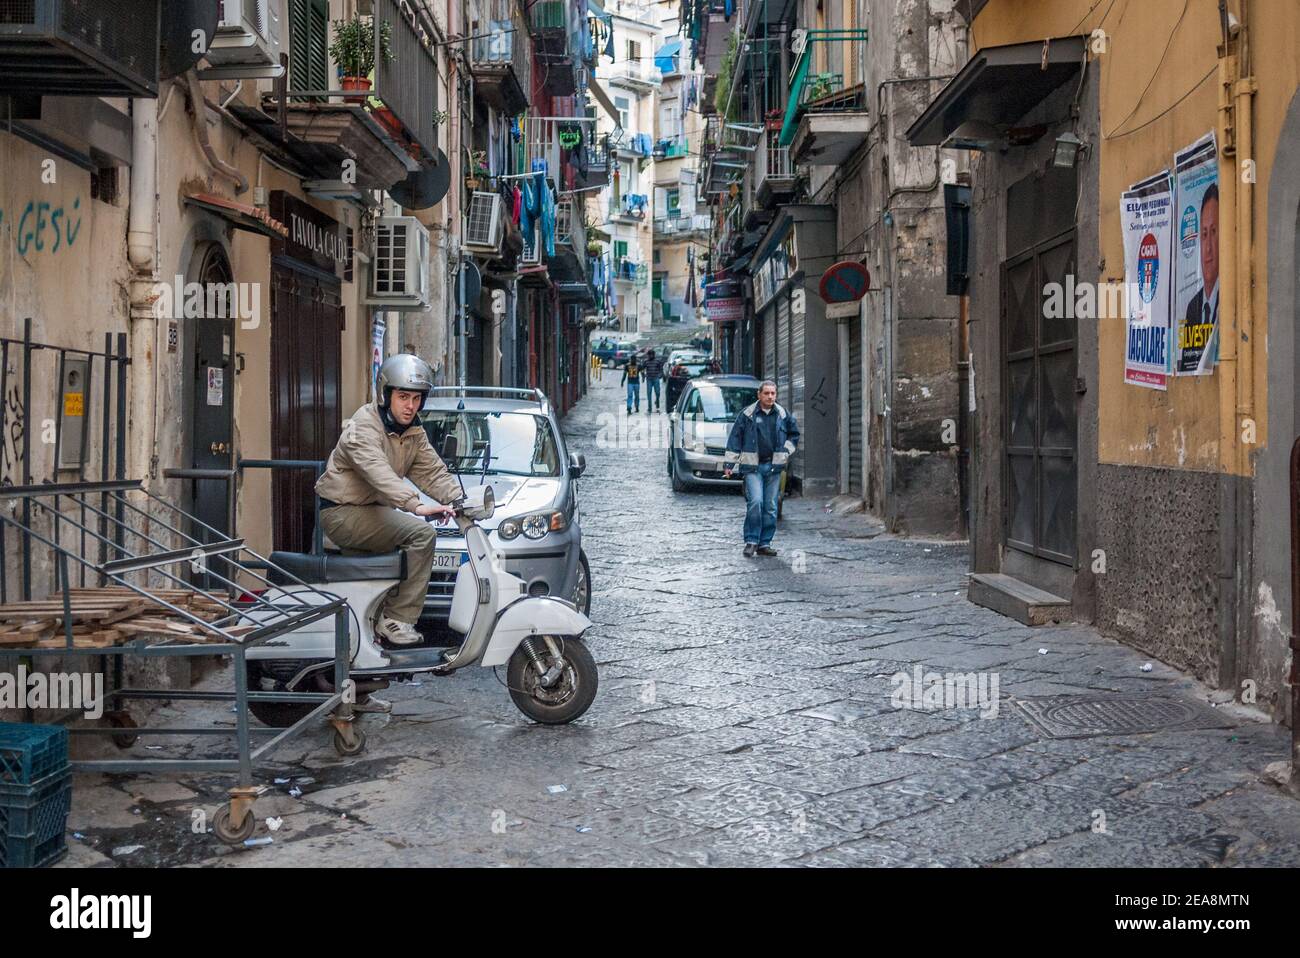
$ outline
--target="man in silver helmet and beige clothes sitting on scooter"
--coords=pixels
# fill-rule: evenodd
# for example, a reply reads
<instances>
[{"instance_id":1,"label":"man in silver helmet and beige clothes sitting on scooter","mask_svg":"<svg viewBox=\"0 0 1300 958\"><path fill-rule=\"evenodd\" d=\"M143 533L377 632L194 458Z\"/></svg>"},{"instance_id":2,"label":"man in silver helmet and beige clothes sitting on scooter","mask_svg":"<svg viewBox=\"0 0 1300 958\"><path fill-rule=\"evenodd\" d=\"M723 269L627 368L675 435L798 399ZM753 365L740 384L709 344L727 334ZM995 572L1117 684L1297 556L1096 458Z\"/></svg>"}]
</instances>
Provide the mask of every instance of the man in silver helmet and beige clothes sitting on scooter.
<instances>
[{"instance_id":1,"label":"man in silver helmet and beige clothes sitting on scooter","mask_svg":"<svg viewBox=\"0 0 1300 958\"><path fill-rule=\"evenodd\" d=\"M450 520L450 506L422 506L425 495L448 503L460 484L429 443L419 412L433 389L433 370L400 354L380 367L378 399L343 422L343 434L316 482L321 528L339 549L406 554L406 577L387 599L374 634L394 646L419 645L415 623L424 608L437 534L428 516ZM400 511L399 511L400 510Z\"/></svg>"}]
</instances>

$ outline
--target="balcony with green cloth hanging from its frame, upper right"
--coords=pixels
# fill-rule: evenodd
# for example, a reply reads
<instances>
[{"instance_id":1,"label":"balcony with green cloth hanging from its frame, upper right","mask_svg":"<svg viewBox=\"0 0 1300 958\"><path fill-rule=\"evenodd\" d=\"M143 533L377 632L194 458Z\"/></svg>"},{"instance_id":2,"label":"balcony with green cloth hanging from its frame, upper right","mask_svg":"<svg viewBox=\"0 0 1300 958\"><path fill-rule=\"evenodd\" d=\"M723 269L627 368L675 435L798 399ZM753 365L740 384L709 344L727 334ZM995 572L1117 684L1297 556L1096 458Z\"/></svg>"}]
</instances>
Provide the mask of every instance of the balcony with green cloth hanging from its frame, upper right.
<instances>
[{"instance_id":1,"label":"balcony with green cloth hanging from its frame, upper right","mask_svg":"<svg viewBox=\"0 0 1300 958\"><path fill-rule=\"evenodd\" d=\"M848 60L866 30L809 30L790 79L780 144L796 164L837 166L867 138L866 88L845 87L844 74L818 69L819 60ZM836 57L831 57L831 53Z\"/></svg>"}]
</instances>

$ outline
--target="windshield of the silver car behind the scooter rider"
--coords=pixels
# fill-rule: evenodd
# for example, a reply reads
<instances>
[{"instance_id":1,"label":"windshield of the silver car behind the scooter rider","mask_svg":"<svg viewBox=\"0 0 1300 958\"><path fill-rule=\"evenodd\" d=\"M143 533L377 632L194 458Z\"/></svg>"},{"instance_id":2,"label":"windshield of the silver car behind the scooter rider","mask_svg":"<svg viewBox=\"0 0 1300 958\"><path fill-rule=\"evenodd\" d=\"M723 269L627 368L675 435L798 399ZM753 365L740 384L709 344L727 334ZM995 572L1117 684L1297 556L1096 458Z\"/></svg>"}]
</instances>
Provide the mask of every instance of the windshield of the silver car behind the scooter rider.
<instances>
[{"instance_id":1,"label":"windshield of the silver car behind the scooter rider","mask_svg":"<svg viewBox=\"0 0 1300 958\"><path fill-rule=\"evenodd\" d=\"M425 409L420 413L433 447L442 451L448 433L456 437L460 458L447 468L481 473L484 456L489 476L559 476L560 456L551 424L529 412L469 412Z\"/></svg>"}]
</instances>

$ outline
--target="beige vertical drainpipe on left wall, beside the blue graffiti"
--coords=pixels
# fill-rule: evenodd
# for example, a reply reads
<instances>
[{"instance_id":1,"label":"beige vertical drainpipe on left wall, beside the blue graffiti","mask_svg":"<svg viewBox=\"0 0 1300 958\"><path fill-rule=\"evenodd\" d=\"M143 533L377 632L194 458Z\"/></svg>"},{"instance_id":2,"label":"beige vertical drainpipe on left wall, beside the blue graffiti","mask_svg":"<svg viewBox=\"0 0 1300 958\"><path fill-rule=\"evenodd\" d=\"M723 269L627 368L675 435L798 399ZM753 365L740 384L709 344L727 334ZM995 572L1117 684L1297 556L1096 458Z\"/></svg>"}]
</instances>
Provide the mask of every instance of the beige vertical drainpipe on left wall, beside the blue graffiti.
<instances>
[{"instance_id":1,"label":"beige vertical drainpipe on left wall, beside the blue graffiti","mask_svg":"<svg viewBox=\"0 0 1300 958\"><path fill-rule=\"evenodd\" d=\"M127 477L144 480L153 477L156 465L157 135L157 100L131 100L131 208L126 234L131 264L130 426L118 424L118 429L127 429Z\"/></svg>"}]
</instances>

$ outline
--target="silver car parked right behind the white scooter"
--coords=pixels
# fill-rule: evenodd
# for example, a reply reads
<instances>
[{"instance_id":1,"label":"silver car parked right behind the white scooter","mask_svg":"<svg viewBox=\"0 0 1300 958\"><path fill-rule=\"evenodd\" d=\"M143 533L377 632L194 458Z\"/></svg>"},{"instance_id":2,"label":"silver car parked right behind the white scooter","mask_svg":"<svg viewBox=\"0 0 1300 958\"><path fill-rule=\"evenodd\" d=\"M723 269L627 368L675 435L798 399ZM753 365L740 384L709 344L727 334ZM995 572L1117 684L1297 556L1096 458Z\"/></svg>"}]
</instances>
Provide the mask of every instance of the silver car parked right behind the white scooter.
<instances>
[{"instance_id":1,"label":"silver car parked right behind the white scooter","mask_svg":"<svg viewBox=\"0 0 1300 958\"><path fill-rule=\"evenodd\" d=\"M592 571L582 551L577 500L586 461L566 448L542 391L434 386L420 422L434 448L442 448L448 434L456 437L462 455L447 468L460 474L467 489L480 482L493 487L497 510L478 525L504 555L506 569L528 584L530 595L554 595L589 612ZM433 503L422 493L420 498ZM434 528L437 554L417 625L430 636L446 629L456 572L467 559L465 541L454 525Z\"/></svg>"}]
</instances>

